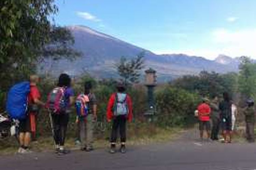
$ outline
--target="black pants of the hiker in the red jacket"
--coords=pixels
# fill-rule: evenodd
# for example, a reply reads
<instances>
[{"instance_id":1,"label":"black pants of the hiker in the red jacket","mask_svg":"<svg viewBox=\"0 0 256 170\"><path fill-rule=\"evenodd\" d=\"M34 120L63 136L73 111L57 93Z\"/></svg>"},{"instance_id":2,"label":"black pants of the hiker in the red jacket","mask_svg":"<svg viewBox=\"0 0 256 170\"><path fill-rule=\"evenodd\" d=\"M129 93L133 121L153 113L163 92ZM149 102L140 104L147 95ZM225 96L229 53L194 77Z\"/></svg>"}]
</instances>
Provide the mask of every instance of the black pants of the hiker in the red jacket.
<instances>
[{"instance_id":1,"label":"black pants of the hiker in the red jacket","mask_svg":"<svg viewBox=\"0 0 256 170\"><path fill-rule=\"evenodd\" d=\"M111 142L115 143L119 129L121 142L126 142L126 116L116 116L113 120Z\"/></svg>"}]
</instances>

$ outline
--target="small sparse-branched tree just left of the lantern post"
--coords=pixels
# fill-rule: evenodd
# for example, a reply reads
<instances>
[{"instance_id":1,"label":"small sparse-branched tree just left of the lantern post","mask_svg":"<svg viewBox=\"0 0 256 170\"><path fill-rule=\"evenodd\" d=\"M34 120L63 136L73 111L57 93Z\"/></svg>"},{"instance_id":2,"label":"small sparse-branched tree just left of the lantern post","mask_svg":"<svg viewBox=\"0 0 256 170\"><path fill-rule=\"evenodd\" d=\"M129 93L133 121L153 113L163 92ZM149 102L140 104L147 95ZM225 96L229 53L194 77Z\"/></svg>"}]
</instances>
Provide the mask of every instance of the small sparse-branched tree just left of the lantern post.
<instances>
[{"instance_id":1,"label":"small sparse-branched tree just left of the lantern post","mask_svg":"<svg viewBox=\"0 0 256 170\"><path fill-rule=\"evenodd\" d=\"M114 66L117 69L121 80L127 85L129 83L139 82L141 70L144 68L144 63L144 53L140 53L131 60L121 57L120 61Z\"/></svg>"}]
</instances>

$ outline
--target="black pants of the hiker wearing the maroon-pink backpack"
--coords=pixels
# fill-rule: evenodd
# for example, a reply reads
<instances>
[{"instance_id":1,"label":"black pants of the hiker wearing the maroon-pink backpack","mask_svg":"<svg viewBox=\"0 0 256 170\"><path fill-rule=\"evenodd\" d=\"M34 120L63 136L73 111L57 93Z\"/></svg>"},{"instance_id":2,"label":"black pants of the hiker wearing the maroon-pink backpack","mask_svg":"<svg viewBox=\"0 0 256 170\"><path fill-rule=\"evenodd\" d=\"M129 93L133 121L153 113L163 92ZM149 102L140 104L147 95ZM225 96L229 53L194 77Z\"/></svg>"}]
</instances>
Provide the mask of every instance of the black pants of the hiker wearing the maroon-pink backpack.
<instances>
[{"instance_id":1,"label":"black pants of the hiker wearing the maroon-pink backpack","mask_svg":"<svg viewBox=\"0 0 256 170\"><path fill-rule=\"evenodd\" d=\"M64 146L69 114L52 114L55 144Z\"/></svg>"}]
</instances>

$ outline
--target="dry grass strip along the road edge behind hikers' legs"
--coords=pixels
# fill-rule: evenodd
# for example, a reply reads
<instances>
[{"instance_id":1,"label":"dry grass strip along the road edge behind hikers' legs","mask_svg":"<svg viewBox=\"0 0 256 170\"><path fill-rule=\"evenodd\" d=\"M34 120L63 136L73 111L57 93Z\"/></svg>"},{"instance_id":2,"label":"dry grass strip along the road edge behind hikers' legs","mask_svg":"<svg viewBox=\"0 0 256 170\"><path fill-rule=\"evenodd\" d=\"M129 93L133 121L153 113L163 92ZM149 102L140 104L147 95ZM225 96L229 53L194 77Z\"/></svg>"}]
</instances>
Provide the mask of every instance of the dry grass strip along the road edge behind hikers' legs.
<instances>
[{"instance_id":1,"label":"dry grass strip along the road edge behind hikers' legs","mask_svg":"<svg viewBox=\"0 0 256 170\"><path fill-rule=\"evenodd\" d=\"M127 131L127 145L138 146L148 145L151 143L168 142L176 139L182 128L167 128L162 129L158 127L148 126L147 124L130 124ZM109 132L105 132L105 137L97 137L94 143L95 149L102 149L109 146L108 138ZM71 150L77 150L79 147L75 146L74 138L67 137L66 147ZM34 152L51 152L54 149L52 136L39 137L37 141L31 143L32 151ZM0 140L0 155L12 155L17 152L18 142L15 138Z\"/></svg>"}]
</instances>

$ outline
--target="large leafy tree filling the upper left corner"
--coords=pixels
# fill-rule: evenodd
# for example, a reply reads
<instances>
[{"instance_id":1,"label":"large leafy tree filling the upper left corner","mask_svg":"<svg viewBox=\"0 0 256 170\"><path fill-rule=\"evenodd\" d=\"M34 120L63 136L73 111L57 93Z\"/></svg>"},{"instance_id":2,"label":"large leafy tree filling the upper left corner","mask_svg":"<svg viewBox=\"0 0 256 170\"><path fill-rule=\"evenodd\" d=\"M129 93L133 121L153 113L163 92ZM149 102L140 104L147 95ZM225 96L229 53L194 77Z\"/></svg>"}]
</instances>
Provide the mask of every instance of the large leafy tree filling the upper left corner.
<instances>
[{"instance_id":1,"label":"large leafy tree filling the upper left corner","mask_svg":"<svg viewBox=\"0 0 256 170\"><path fill-rule=\"evenodd\" d=\"M35 72L45 57L77 56L71 33L51 25L54 0L0 1L0 89Z\"/></svg>"}]
</instances>

